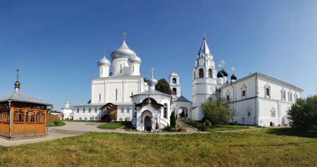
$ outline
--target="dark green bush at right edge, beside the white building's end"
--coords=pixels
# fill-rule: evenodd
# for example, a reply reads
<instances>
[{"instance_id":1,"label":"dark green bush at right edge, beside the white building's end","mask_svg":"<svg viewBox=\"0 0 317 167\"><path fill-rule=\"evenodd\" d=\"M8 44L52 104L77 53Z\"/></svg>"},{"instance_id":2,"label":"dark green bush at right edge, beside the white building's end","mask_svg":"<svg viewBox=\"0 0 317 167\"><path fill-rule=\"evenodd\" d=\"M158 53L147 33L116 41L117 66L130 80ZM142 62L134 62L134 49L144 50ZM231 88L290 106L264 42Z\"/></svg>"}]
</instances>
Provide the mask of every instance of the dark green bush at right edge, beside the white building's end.
<instances>
[{"instance_id":1,"label":"dark green bush at right edge, beside the white building's end","mask_svg":"<svg viewBox=\"0 0 317 167\"><path fill-rule=\"evenodd\" d=\"M297 99L287 114L291 126L317 131L317 95Z\"/></svg>"}]
</instances>

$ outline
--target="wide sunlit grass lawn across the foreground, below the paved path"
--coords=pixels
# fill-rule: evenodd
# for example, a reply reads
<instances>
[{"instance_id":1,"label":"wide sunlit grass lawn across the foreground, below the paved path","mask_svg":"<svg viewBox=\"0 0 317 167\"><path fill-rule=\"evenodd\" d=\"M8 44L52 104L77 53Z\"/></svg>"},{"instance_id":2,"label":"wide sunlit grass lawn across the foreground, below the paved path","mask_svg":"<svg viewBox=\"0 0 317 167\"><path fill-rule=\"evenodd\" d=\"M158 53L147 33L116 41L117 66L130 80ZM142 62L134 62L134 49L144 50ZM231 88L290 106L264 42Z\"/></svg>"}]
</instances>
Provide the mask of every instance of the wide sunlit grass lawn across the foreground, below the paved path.
<instances>
[{"instance_id":1,"label":"wide sunlit grass lawn across the foreground, below the paved path","mask_svg":"<svg viewBox=\"0 0 317 167\"><path fill-rule=\"evenodd\" d=\"M0 146L0 166L316 166L317 133L293 128L228 133L90 132Z\"/></svg>"}]
</instances>

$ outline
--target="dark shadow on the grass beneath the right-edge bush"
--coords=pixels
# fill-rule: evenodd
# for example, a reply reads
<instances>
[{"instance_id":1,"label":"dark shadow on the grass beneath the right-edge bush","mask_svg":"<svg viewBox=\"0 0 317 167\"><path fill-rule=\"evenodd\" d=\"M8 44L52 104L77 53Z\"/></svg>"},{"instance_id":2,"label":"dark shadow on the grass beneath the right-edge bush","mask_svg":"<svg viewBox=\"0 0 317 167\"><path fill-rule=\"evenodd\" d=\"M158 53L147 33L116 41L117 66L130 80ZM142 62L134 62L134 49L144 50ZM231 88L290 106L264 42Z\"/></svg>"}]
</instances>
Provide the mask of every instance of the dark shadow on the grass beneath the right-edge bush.
<instances>
[{"instance_id":1,"label":"dark shadow on the grass beneath the right-edge bush","mask_svg":"<svg viewBox=\"0 0 317 167\"><path fill-rule=\"evenodd\" d=\"M286 135L286 136L298 136L298 137L308 137L317 138L317 132L313 130L303 130L295 127L289 128L271 128L268 129L269 134L275 135Z\"/></svg>"}]
</instances>

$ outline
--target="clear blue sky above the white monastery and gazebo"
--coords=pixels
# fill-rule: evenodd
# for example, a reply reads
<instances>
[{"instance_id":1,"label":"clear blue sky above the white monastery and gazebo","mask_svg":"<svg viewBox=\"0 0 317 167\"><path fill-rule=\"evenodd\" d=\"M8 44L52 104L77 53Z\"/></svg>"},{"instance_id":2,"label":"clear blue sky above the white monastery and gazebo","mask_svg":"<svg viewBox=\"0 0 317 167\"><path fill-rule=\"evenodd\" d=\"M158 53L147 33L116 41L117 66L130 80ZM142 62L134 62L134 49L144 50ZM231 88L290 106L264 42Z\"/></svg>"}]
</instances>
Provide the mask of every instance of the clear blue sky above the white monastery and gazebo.
<instances>
[{"instance_id":1,"label":"clear blue sky above the white monastery and gazebo","mask_svg":"<svg viewBox=\"0 0 317 167\"><path fill-rule=\"evenodd\" d=\"M192 70L204 32L215 65L239 78L259 72L317 93L315 0L0 1L0 96L21 91L60 111L90 99L97 61L121 34L138 47L141 74L175 71L192 100ZM121 40L121 41L120 41Z\"/></svg>"}]
</instances>

